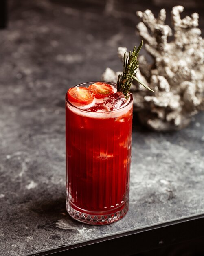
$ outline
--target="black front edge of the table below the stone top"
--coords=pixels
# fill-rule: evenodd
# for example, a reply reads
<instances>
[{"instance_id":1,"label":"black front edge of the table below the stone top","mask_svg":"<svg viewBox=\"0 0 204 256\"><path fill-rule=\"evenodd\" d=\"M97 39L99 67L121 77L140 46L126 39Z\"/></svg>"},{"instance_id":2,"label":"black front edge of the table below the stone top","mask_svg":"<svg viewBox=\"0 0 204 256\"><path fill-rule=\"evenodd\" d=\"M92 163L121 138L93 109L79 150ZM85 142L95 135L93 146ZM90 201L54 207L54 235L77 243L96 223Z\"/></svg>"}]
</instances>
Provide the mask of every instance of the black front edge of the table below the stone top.
<instances>
[{"instance_id":1,"label":"black front edge of the table below the stone top","mask_svg":"<svg viewBox=\"0 0 204 256\"><path fill-rule=\"evenodd\" d=\"M22 254L22 256L128 256L202 237L204 238L204 213Z\"/></svg>"}]
</instances>

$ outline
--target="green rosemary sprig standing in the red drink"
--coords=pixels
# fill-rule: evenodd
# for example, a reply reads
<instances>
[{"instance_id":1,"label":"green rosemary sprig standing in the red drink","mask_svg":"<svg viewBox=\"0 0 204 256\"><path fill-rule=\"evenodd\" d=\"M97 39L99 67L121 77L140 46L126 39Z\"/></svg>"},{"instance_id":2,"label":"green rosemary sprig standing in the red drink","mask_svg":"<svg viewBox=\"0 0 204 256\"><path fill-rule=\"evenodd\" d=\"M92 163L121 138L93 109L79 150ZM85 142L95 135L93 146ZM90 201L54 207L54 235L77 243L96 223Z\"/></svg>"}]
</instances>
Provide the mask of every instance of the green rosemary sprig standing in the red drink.
<instances>
[{"instance_id":1,"label":"green rosemary sprig standing in the red drink","mask_svg":"<svg viewBox=\"0 0 204 256\"><path fill-rule=\"evenodd\" d=\"M118 92L122 92L126 99L129 97L129 90L131 83L134 80L138 81L141 85L143 85L148 90L152 91L147 85L145 85L143 82L141 82L138 78L136 78L136 69L139 67L139 61L137 60L138 54L140 52L140 49L143 46L143 41L141 41L140 46L136 49L136 46L134 47L133 51L129 52L129 56L123 57L123 74L120 74L118 76L118 82L117 82L117 90Z\"/></svg>"}]
</instances>

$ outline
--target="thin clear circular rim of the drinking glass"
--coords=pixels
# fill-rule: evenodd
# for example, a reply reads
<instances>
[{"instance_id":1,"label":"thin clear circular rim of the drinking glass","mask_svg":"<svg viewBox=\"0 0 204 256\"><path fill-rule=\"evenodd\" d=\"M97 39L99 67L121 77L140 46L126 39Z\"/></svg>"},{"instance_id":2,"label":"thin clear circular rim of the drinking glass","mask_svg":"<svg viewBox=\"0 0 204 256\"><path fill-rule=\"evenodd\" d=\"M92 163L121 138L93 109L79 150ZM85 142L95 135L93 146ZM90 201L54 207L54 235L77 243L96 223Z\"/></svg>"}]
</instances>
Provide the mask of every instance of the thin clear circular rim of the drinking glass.
<instances>
[{"instance_id":1,"label":"thin clear circular rim of the drinking glass","mask_svg":"<svg viewBox=\"0 0 204 256\"><path fill-rule=\"evenodd\" d=\"M112 83L112 82L107 82L107 81L90 81L90 82L85 82L85 83L79 83L78 85L75 85L75 86L73 86L73 87L78 87L78 86L83 86L83 85L86 85L86 84L88 84L88 83L97 83L97 82L101 82L101 83L107 83L107 84L111 84L111 85L116 85L116 83ZM71 88L71 87L70 87ZM70 89L69 88L69 89ZM68 90L69 90L68 89ZM67 91L68 92L68 91ZM84 113L94 113L94 114L97 114L97 113L99 113L99 114L101 114L101 113L112 113L112 112L114 112L114 113L116 113L116 112L119 112L120 110L122 110L122 109L125 109L126 107L128 107L129 106L129 104L130 103L132 103L132 101L133 101L133 97L132 97L132 93L131 92L129 92L129 96L130 96L130 100L129 100L129 102L127 103L127 105L125 105L125 106L123 106L122 108L118 108L118 109L116 109L116 110L112 110L112 111L99 111L99 112L89 112L89 111L86 111L86 110L83 110L83 109L81 109L81 108L78 108L77 106L75 106L75 105L73 105L69 100L68 100L68 97L67 97L67 92L66 92L66 94L65 94L65 101L70 105L70 106L72 106L73 108L76 108L77 110L80 110L80 112L84 112Z\"/></svg>"}]
</instances>

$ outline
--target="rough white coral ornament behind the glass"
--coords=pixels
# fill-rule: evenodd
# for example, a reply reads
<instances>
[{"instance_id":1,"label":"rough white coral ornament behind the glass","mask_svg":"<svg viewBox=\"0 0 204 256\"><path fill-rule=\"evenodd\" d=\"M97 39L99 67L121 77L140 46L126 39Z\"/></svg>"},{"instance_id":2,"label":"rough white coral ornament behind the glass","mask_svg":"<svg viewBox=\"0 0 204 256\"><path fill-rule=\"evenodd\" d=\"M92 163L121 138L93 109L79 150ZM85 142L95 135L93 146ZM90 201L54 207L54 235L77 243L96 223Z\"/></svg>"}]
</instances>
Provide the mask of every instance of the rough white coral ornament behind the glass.
<instances>
[{"instance_id":1,"label":"rough white coral ornament behind the glass","mask_svg":"<svg viewBox=\"0 0 204 256\"><path fill-rule=\"evenodd\" d=\"M165 9L158 18L151 10L137 12L142 21L137 29L153 64L140 56L136 76L154 93L133 81L134 110L142 124L157 131L180 130L189 124L193 115L204 110L204 39L197 28L198 14L181 19L183 9L175 6L171 11L173 33L164 24ZM174 39L168 42L172 34ZM119 58L123 59L125 51L126 48L118 48ZM118 72L107 68L102 78L116 83L117 76Z\"/></svg>"}]
</instances>

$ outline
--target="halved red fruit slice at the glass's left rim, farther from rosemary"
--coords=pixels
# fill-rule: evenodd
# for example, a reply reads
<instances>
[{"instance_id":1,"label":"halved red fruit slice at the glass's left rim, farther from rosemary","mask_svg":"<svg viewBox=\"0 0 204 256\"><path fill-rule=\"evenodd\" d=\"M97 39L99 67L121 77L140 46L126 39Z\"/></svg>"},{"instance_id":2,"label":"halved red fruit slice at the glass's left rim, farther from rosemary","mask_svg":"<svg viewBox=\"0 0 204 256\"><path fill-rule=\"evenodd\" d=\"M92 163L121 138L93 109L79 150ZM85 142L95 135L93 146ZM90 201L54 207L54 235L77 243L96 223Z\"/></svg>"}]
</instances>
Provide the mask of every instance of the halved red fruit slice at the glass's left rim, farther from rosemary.
<instances>
[{"instance_id":1,"label":"halved red fruit slice at the glass's left rim, farther from rosemary","mask_svg":"<svg viewBox=\"0 0 204 256\"><path fill-rule=\"evenodd\" d=\"M72 87L67 92L70 102L88 105L94 100L94 94L86 87Z\"/></svg>"}]
</instances>

